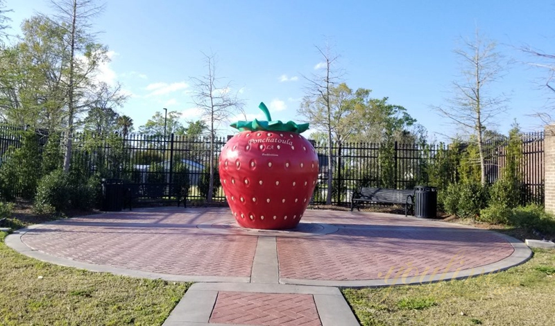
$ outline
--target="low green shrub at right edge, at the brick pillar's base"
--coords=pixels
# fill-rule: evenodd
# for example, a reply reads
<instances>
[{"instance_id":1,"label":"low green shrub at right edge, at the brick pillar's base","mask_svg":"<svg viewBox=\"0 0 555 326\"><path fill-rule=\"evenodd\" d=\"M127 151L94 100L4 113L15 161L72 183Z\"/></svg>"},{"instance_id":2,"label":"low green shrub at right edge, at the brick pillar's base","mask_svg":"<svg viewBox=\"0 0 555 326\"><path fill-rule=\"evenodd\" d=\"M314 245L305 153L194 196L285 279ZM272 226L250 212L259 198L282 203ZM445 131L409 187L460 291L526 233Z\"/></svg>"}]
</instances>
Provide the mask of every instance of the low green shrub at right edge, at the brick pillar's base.
<instances>
[{"instance_id":1,"label":"low green shrub at right edge, at the brick pillar's base","mask_svg":"<svg viewBox=\"0 0 555 326\"><path fill-rule=\"evenodd\" d=\"M530 231L536 230L544 235L555 235L555 218L540 205L514 208L510 223Z\"/></svg>"}]
</instances>

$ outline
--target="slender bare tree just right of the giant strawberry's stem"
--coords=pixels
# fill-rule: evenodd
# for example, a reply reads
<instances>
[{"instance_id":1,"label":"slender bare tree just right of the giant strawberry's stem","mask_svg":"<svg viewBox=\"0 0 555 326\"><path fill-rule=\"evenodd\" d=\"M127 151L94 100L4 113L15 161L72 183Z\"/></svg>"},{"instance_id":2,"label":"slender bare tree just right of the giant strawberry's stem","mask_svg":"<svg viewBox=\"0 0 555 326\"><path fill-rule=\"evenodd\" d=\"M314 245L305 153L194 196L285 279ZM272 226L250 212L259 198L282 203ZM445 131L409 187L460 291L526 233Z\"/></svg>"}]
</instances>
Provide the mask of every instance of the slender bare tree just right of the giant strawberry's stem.
<instances>
[{"instance_id":1,"label":"slender bare tree just right of the giant strawberry's stem","mask_svg":"<svg viewBox=\"0 0 555 326\"><path fill-rule=\"evenodd\" d=\"M324 49L316 46L320 53L322 62L315 67L319 74L311 74L311 76L302 76L307 80L305 87L305 97L302 100L298 113L307 119L316 129L327 134L327 195L326 204L332 203L332 178L334 171L334 157L332 153L332 144L334 141L334 114L337 114L341 107L338 107L341 92L334 92L339 85L342 71L336 69L336 63L339 58L333 53L330 45L326 45Z\"/></svg>"}]
</instances>

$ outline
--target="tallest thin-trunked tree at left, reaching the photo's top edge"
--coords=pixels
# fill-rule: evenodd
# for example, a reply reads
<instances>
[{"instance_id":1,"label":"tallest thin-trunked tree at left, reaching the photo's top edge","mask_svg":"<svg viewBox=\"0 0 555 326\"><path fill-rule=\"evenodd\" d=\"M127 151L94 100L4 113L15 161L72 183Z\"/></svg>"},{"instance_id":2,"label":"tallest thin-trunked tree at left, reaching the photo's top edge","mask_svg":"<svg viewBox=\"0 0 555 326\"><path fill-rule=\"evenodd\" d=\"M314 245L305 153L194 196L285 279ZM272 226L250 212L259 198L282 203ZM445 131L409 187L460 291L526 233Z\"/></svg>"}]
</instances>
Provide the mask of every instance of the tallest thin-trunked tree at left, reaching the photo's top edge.
<instances>
[{"instance_id":1,"label":"tallest thin-trunked tree at left, reaching the photo's top edge","mask_svg":"<svg viewBox=\"0 0 555 326\"><path fill-rule=\"evenodd\" d=\"M79 108L80 87L86 87L89 77L93 74L98 62L103 60L105 47L94 44L94 34L90 33L91 20L103 12L105 6L97 5L94 0L50 0L57 15L54 21L65 28L65 39L69 48L69 69L67 71L67 135L64 156L64 171L69 171L71 162L71 134L74 132L74 121ZM92 55L83 60L78 55ZM85 65L83 65L83 61ZM88 65L87 65L88 64Z\"/></svg>"}]
</instances>

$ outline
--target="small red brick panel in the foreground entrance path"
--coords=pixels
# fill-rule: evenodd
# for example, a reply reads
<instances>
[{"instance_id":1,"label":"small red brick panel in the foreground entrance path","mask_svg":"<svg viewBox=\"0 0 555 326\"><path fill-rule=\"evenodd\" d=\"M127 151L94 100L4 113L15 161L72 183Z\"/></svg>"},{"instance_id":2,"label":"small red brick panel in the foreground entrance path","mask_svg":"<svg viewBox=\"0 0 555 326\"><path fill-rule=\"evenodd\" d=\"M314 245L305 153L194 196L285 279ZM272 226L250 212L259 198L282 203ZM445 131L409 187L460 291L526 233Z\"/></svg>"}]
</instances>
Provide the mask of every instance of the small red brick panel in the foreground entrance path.
<instances>
[{"instance_id":1,"label":"small red brick panel in the foreground entrance path","mask_svg":"<svg viewBox=\"0 0 555 326\"><path fill-rule=\"evenodd\" d=\"M322 325L312 295L225 291L218 293L210 323L264 326Z\"/></svg>"}]
</instances>

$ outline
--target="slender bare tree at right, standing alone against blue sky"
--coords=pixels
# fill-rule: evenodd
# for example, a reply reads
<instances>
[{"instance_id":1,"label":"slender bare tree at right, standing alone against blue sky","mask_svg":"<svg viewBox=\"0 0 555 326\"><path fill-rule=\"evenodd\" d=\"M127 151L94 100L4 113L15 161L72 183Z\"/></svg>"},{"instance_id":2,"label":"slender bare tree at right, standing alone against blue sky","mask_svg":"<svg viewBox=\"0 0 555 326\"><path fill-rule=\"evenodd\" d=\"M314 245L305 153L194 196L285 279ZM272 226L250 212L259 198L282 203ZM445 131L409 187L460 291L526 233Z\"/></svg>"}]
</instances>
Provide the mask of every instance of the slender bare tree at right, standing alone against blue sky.
<instances>
[{"instance_id":1,"label":"slender bare tree at right, standing alone against blue sky","mask_svg":"<svg viewBox=\"0 0 555 326\"><path fill-rule=\"evenodd\" d=\"M473 40L462 40L463 49L454 51L460 60L459 80L453 82L452 97L447 105L433 108L456 126L467 130L478 146L480 181L486 184L484 132L495 124L494 118L506 111L506 96L490 94L490 86L504 76L504 56L495 42L482 37L476 30Z\"/></svg>"}]
</instances>

